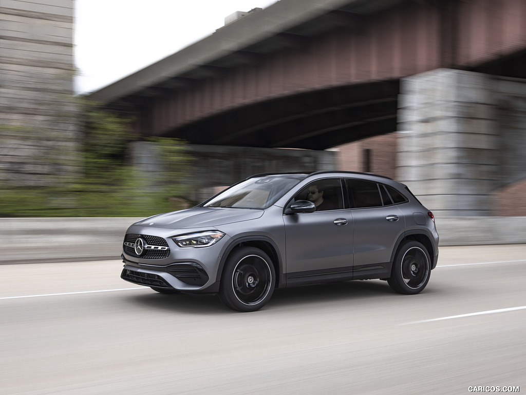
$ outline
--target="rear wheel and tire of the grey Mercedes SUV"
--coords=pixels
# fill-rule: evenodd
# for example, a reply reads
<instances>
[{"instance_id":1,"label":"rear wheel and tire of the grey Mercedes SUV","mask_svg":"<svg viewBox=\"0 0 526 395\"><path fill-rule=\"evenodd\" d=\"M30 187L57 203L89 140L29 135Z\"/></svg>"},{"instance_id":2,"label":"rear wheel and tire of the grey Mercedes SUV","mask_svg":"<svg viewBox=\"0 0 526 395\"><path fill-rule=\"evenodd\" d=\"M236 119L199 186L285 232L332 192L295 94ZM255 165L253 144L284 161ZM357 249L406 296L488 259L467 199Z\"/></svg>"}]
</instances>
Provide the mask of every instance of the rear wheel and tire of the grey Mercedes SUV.
<instances>
[{"instance_id":1,"label":"rear wheel and tire of the grey Mercedes SUV","mask_svg":"<svg viewBox=\"0 0 526 395\"><path fill-rule=\"evenodd\" d=\"M431 276L431 260L426 248L418 241L406 241L400 245L389 286L396 292L414 295L426 288Z\"/></svg>"}]
</instances>

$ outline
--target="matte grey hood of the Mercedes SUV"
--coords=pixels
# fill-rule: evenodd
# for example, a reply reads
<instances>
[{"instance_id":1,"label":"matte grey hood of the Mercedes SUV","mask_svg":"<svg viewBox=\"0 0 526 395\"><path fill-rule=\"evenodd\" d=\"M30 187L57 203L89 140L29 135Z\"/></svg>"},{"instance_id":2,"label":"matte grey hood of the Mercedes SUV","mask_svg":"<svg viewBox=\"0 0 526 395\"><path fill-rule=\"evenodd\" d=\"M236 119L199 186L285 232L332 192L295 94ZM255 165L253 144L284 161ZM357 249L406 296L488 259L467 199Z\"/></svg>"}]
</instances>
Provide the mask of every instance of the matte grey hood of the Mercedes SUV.
<instances>
[{"instance_id":1,"label":"matte grey hood of the Mercedes SUV","mask_svg":"<svg viewBox=\"0 0 526 395\"><path fill-rule=\"evenodd\" d=\"M255 220L261 215L263 210L195 207L150 216L134 225L168 229L213 228L232 222Z\"/></svg>"}]
</instances>

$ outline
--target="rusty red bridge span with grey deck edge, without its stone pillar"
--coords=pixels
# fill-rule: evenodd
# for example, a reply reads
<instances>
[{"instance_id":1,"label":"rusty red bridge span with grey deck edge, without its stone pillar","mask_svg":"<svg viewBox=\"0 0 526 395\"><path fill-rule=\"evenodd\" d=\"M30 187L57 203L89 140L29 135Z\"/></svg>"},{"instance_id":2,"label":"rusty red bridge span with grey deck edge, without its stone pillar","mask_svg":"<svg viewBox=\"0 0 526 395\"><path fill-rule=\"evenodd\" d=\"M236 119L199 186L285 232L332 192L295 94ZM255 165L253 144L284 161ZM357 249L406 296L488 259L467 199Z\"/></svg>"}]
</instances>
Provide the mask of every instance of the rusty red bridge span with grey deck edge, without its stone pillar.
<instances>
[{"instance_id":1,"label":"rusty red bridge span with grey deck edge, without its stone pillar","mask_svg":"<svg viewBox=\"0 0 526 395\"><path fill-rule=\"evenodd\" d=\"M526 78L525 14L523 0L281 0L90 97L143 136L323 150L396 131L400 78Z\"/></svg>"}]
</instances>

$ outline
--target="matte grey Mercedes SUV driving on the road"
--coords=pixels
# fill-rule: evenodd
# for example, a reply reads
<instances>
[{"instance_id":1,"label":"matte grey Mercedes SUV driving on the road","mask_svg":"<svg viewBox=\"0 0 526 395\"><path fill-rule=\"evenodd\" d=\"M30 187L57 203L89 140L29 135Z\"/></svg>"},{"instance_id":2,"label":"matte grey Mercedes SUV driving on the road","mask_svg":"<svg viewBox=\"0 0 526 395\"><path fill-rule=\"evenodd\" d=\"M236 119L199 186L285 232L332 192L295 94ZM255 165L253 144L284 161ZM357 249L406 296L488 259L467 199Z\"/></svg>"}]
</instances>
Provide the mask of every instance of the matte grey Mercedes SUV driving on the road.
<instances>
[{"instance_id":1,"label":"matte grey Mercedes SUV driving on the road","mask_svg":"<svg viewBox=\"0 0 526 395\"><path fill-rule=\"evenodd\" d=\"M218 293L255 311L276 287L382 279L422 291L438 260L433 214L369 173L249 177L194 208L131 225L121 277L161 293Z\"/></svg>"}]
</instances>

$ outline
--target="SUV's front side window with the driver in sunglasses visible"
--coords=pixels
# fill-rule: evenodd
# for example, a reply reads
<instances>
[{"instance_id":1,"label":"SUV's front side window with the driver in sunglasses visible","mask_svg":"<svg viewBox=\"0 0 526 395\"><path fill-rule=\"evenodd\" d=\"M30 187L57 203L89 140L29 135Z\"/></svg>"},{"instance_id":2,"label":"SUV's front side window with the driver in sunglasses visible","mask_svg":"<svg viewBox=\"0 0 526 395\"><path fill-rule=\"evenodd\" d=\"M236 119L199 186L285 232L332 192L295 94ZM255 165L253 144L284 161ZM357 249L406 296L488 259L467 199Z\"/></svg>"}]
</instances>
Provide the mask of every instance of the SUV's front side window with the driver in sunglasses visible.
<instances>
[{"instance_id":1,"label":"SUV's front side window with the driver in sunglasses visible","mask_svg":"<svg viewBox=\"0 0 526 395\"><path fill-rule=\"evenodd\" d=\"M340 179L313 181L294 196L294 200L308 200L315 204L316 211L343 209Z\"/></svg>"}]
</instances>

